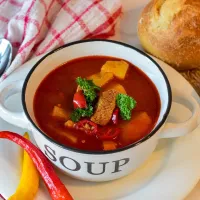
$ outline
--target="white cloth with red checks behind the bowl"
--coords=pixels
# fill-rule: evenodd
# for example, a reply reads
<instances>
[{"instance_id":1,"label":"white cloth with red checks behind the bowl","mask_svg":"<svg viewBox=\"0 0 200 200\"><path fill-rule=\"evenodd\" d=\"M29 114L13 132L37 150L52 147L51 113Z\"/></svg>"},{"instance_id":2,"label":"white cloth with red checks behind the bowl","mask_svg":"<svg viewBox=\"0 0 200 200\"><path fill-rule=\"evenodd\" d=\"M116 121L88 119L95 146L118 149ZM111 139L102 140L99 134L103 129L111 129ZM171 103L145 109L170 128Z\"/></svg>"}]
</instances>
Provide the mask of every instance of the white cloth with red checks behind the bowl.
<instances>
[{"instance_id":1,"label":"white cloth with red checks behind the bowl","mask_svg":"<svg viewBox=\"0 0 200 200\"><path fill-rule=\"evenodd\" d=\"M0 0L0 37L14 60L0 82L25 61L71 41L115 34L120 0Z\"/></svg>"}]
</instances>

